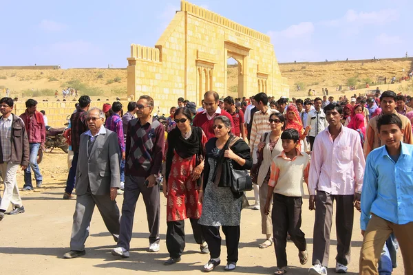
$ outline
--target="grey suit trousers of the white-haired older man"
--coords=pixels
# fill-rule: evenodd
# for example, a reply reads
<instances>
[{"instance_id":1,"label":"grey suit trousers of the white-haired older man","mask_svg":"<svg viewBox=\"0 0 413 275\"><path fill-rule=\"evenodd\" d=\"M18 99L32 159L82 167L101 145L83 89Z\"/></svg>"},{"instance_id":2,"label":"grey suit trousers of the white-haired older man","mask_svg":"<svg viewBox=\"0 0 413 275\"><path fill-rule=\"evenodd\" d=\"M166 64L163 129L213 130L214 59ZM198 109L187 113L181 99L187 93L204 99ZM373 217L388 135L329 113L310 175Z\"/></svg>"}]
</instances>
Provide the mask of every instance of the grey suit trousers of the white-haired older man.
<instances>
[{"instance_id":1,"label":"grey suit trousers of the white-haired older man","mask_svg":"<svg viewBox=\"0 0 413 275\"><path fill-rule=\"evenodd\" d=\"M85 250L85 242L89 236L90 220L94 207L98 206L107 230L118 239L120 228L119 208L116 200L112 201L109 195L95 196L89 190L85 195L76 197L76 210L73 215L72 236L70 238L70 250Z\"/></svg>"}]
</instances>

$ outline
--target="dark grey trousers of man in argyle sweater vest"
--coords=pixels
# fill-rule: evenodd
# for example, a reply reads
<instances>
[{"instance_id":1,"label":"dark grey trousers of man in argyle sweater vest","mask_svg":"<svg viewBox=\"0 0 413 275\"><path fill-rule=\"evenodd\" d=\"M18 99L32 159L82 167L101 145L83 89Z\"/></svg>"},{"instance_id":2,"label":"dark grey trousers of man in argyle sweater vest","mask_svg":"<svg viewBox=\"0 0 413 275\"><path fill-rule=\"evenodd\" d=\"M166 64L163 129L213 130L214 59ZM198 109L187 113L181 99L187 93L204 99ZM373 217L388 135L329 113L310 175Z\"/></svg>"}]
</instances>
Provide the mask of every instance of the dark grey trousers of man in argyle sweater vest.
<instances>
[{"instance_id":1,"label":"dark grey trousers of man in argyle sweater vest","mask_svg":"<svg viewBox=\"0 0 413 275\"><path fill-rule=\"evenodd\" d=\"M149 243L159 243L160 225L160 197L159 185L147 188L144 184L145 177L125 176L125 193L123 193L122 217L120 218L120 234L118 246L129 251L129 243L132 239L136 201L142 193L145 202ZM141 212L140 212L141 213Z\"/></svg>"}]
</instances>

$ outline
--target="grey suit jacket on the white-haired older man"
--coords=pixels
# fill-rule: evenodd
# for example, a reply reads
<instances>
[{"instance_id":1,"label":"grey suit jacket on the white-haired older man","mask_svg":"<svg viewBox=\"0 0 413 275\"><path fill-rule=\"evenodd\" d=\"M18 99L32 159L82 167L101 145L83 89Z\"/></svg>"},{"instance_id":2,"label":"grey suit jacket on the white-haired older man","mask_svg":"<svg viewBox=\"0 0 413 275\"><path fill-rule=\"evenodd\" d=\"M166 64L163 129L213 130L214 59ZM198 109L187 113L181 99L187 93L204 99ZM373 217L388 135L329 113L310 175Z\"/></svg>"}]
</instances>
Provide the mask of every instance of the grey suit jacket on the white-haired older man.
<instances>
[{"instance_id":1,"label":"grey suit jacket on the white-haired older man","mask_svg":"<svg viewBox=\"0 0 413 275\"><path fill-rule=\"evenodd\" d=\"M89 184L93 195L109 195L111 187L120 188L118 135L105 130L106 134L96 137L89 157L87 156L89 135L85 133L81 135L76 168L76 195L85 195Z\"/></svg>"}]
</instances>

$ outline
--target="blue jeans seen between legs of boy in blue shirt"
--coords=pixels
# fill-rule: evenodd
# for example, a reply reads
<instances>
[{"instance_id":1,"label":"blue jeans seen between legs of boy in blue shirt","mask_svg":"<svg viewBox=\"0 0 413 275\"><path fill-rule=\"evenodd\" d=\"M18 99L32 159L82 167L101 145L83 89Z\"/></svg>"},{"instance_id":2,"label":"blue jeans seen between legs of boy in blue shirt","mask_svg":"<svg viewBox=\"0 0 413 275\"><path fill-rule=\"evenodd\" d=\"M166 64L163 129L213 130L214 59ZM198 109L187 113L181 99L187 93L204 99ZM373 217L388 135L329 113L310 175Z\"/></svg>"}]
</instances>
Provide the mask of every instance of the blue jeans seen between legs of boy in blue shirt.
<instances>
[{"instance_id":1,"label":"blue jeans seen between legs of boy in blue shirt","mask_svg":"<svg viewBox=\"0 0 413 275\"><path fill-rule=\"evenodd\" d=\"M390 234L389 239L385 241L383 252L379 261L379 274L391 275L393 268L397 266L397 250L399 249L399 243L394 236L394 233Z\"/></svg>"}]
</instances>

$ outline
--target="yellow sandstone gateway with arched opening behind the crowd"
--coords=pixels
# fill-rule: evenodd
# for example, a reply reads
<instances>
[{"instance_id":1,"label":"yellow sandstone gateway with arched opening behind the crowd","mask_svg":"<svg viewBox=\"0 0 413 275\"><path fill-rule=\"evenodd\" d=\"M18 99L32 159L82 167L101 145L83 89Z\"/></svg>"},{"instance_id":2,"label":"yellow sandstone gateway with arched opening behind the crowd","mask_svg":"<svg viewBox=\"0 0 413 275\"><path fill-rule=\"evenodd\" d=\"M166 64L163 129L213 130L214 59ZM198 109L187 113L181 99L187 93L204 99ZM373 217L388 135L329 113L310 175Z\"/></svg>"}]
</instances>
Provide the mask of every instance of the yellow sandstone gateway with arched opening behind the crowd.
<instances>
[{"instance_id":1,"label":"yellow sandstone gateway with arched opening behind the crowd","mask_svg":"<svg viewBox=\"0 0 413 275\"><path fill-rule=\"evenodd\" d=\"M231 57L239 66L237 92L227 91ZM132 44L127 61L128 96L149 94L164 113L181 96L200 104L208 90L235 97L289 94L269 36L187 1L155 47Z\"/></svg>"}]
</instances>

